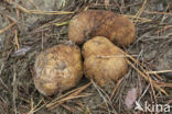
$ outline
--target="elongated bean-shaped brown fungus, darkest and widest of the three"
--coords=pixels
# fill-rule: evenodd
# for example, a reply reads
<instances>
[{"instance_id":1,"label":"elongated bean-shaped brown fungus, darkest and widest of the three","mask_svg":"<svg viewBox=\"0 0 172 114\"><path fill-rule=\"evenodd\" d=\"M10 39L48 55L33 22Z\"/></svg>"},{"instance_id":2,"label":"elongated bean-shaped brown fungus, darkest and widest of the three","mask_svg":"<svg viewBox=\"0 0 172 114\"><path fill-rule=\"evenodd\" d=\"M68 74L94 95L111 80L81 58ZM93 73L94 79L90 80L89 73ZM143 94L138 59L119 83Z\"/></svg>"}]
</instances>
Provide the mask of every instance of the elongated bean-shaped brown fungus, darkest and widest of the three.
<instances>
[{"instance_id":1,"label":"elongated bean-shaped brown fungus, darkest and widest of the three","mask_svg":"<svg viewBox=\"0 0 172 114\"><path fill-rule=\"evenodd\" d=\"M68 25L68 38L76 44L84 44L95 36L105 36L112 43L127 46L133 43L135 34L135 24L127 16L110 11L80 12Z\"/></svg>"}]
</instances>

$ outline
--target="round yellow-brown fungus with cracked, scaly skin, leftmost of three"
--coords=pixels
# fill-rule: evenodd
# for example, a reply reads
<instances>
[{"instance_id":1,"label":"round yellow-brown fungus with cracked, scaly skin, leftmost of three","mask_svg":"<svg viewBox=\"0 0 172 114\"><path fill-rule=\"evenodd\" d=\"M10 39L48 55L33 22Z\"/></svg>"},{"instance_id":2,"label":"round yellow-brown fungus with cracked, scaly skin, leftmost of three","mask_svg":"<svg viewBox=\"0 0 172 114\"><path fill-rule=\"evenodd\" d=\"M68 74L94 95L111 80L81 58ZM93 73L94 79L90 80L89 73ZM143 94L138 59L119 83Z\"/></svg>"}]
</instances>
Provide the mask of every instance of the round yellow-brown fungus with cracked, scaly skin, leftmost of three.
<instances>
[{"instance_id":1,"label":"round yellow-brown fungus with cracked, scaly skin, leftmost of three","mask_svg":"<svg viewBox=\"0 0 172 114\"><path fill-rule=\"evenodd\" d=\"M83 77L80 49L61 44L41 52L34 64L34 84L44 95L75 87Z\"/></svg>"}]
</instances>

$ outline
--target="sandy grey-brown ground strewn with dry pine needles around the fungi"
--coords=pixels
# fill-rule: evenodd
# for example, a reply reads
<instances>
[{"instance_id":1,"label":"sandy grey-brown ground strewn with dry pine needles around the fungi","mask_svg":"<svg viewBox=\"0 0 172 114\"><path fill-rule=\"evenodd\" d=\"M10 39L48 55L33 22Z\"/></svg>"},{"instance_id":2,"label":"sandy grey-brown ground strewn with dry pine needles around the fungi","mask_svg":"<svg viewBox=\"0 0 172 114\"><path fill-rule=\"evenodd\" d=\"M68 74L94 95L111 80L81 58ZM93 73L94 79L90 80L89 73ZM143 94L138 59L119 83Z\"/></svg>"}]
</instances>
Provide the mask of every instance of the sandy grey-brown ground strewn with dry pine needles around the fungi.
<instances>
[{"instance_id":1,"label":"sandy grey-brown ground strewn with dry pine needles around the fungi","mask_svg":"<svg viewBox=\"0 0 172 114\"><path fill-rule=\"evenodd\" d=\"M140 99L142 104L144 101L170 104L172 100L172 2L170 0L109 0L107 9L104 0L0 1L0 32L17 22L0 34L0 114L140 114L141 112L135 109L129 110L125 105L127 91L131 88L139 88L138 94L140 95L137 100ZM64 5L63 1L65 1ZM26 11L72 11L75 13L33 14L17 4ZM41 50L68 42L67 24L60 26L55 24L67 23L72 16L84 9L111 10L128 16L132 15L130 19L136 23L137 39L132 45L121 48L139 60L146 71L171 70L158 73L162 78L161 82L168 83L162 89L169 93L169 96L153 88L157 98L160 98L154 99L150 82L129 66L129 72L123 77L119 87L116 82L101 89L92 82L80 93L87 94L85 98L68 100L53 110L46 107L46 104L56 98L89 82L84 78L79 86L72 90L54 96L43 96L35 89L32 76L35 57ZM136 20L135 15L139 10L141 19ZM141 70L136 62L133 64ZM158 80L152 73L150 77L152 80ZM116 87L118 88L110 99ZM142 98L140 98L141 94L143 94Z\"/></svg>"}]
</instances>

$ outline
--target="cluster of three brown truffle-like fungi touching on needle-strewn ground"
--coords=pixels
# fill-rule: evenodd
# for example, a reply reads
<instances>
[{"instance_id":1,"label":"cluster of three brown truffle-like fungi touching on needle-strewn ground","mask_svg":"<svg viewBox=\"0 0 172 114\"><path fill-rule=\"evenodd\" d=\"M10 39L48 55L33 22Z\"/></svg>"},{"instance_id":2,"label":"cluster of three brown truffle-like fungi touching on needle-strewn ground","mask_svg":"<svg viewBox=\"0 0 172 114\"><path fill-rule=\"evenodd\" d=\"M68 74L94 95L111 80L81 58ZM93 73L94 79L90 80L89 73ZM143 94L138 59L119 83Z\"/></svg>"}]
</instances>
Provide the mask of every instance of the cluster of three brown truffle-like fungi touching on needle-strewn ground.
<instances>
[{"instance_id":1,"label":"cluster of three brown truffle-like fungi touching on needle-strewn ground","mask_svg":"<svg viewBox=\"0 0 172 114\"><path fill-rule=\"evenodd\" d=\"M98 10L78 13L69 22L68 38L82 49L60 44L42 52L34 65L36 89L52 95L77 86L83 75L98 86L117 81L128 71L128 65L115 44L127 46L135 34L135 24L123 15Z\"/></svg>"}]
</instances>

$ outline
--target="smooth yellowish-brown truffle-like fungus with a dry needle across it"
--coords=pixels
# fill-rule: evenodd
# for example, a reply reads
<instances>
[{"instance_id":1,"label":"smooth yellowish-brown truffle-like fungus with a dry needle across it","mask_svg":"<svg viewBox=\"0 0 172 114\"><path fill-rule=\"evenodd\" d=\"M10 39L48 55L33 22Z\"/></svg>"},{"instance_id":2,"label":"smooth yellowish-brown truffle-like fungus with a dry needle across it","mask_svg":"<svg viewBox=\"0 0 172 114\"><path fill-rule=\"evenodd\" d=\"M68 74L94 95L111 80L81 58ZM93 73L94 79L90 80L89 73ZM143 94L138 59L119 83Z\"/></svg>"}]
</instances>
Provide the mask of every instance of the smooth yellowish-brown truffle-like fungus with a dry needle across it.
<instances>
[{"instance_id":1,"label":"smooth yellowish-brown truffle-like fungus with a dry needle across it","mask_svg":"<svg viewBox=\"0 0 172 114\"><path fill-rule=\"evenodd\" d=\"M85 77L98 86L117 81L128 71L127 58L109 39L96 36L83 46Z\"/></svg>"}]
</instances>

